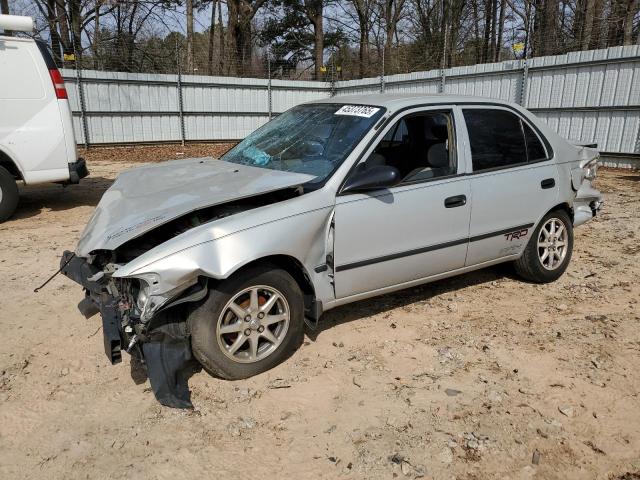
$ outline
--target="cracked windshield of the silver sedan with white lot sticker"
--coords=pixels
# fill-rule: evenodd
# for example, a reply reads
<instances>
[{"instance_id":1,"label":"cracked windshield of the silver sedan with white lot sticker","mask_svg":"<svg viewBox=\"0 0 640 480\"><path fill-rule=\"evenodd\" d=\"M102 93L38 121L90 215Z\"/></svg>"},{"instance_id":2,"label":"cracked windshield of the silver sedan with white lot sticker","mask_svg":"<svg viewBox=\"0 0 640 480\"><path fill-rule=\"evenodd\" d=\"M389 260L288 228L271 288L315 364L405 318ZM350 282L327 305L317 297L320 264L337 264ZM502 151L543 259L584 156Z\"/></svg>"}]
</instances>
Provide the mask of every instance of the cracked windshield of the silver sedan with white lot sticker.
<instances>
[{"instance_id":1,"label":"cracked windshield of the silver sedan with white lot sticker","mask_svg":"<svg viewBox=\"0 0 640 480\"><path fill-rule=\"evenodd\" d=\"M222 160L253 167L329 177L384 113L380 107L301 105L255 131Z\"/></svg>"}]
</instances>

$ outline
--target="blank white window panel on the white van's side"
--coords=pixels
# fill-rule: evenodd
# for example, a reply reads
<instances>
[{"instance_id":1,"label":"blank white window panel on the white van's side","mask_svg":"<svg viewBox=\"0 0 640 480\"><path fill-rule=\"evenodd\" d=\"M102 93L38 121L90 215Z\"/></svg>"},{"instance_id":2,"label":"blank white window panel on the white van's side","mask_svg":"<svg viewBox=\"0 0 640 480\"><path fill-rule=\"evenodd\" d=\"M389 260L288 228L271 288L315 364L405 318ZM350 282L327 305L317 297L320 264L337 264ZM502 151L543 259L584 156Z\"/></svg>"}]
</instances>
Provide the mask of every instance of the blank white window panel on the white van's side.
<instances>
[{"instance_id":1,"label":"blank white window panel on the white van's side","mask_svg":"<svg viewBox=\"0 0 640 480\"><path fill-rule=\"evenodd\" d=\"M34 100L45 96L33 46L24 41L0 40L0 99Z\"/></svg>"}]
</instances>

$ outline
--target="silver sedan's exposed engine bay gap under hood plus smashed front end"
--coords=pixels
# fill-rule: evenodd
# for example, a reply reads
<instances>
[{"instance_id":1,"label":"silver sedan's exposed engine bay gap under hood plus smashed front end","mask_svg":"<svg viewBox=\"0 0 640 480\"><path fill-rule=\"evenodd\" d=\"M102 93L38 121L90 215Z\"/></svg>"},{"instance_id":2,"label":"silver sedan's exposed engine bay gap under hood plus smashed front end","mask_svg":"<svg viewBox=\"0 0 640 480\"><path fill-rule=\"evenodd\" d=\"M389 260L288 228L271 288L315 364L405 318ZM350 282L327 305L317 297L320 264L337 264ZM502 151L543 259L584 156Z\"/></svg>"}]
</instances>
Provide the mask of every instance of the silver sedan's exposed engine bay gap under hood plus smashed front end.
<instances>
[{"instance_id":1,"label":"silver sedan's exposed engine bay gap under hood plus smashed front end","mask_svg":"<svg viewBox=\"0 0 640 480\"><path fill-rule=\"evenodd\" d=\"M78 309L90 318L100 313L104 347L112 364L122 361L122 351L135 357L146 368L152 389L160 403L191 408L186 372L192 361L186 309L206 297L209 279L204 276L186 288L171 292L160 302L150 296L150 287L158 279L119 278L113 274L122 265L192 228L231 215L281 202L302 194L300 187L240 199L199 209L177 217L115 250L97 250L85 259L65 252L61 272L80 283L85 298Z\"/></svg>"}]
</instances>

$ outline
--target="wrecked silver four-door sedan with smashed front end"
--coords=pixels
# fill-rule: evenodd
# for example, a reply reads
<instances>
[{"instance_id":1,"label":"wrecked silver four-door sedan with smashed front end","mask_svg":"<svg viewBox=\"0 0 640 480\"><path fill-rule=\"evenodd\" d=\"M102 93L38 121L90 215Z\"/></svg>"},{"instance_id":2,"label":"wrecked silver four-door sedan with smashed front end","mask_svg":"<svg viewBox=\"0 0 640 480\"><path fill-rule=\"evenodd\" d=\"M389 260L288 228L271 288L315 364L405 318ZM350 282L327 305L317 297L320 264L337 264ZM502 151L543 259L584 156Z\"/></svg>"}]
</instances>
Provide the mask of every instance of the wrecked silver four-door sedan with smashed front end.
<instances>
[{"instance_id":1,"label":"wrecked silver four-door sedan with smashed front end","mask_svg":"<svg viewBox=\"0 0 640 480\"><path fill-rule=\"evenodd\" d=\"M62 272L105 349L188 405L191 354L241 379L282 362L339 305L513 262L551 282L602 206L598 151L511 103L334 97L296 106L221 159L122 173Z\"/></svg>"}]
</instances>

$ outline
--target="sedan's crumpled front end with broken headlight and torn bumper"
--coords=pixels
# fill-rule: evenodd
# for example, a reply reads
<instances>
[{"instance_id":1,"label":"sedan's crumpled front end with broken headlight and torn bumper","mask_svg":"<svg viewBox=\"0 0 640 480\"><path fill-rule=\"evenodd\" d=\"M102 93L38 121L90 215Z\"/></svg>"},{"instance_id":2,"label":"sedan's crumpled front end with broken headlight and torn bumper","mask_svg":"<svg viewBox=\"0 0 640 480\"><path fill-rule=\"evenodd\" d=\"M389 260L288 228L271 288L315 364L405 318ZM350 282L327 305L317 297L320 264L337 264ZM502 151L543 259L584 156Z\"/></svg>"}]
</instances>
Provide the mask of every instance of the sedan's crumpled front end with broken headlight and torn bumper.
<instances>
[{"instance_id":1,"label":"sedan's crumpled front end with broken headlight and torn bumper","mask_svg":"<svg viewBox=\"0 0 640 480\"><path fill-rule=\"evenodd\" d=\"M86 259L65 251L61 272L80 284L85 298L78 309L90 318L102 317L104 349L112 364L125 351L145 365L157 400L163 405L191 408L187 374L192 368L191 345L184 316L169 306L197 301L207 292L198 281L163 297L150 295L153 278L117 278L118 265ZM136 362L137 363L137 362Z\"/></svg>"}]
</instances>

